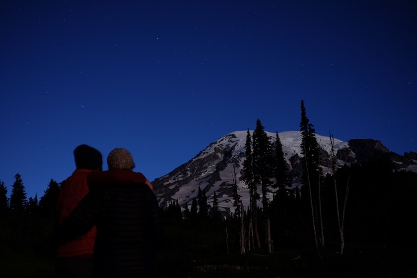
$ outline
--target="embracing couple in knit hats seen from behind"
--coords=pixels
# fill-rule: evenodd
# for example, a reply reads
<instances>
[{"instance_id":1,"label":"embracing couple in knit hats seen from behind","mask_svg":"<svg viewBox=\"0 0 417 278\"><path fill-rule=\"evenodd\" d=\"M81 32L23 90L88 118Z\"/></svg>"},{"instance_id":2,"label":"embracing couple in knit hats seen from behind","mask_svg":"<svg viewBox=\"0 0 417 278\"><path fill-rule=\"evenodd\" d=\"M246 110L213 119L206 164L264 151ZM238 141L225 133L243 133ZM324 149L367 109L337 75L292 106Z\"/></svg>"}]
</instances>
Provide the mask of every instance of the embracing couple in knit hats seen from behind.
<instances>
[{"instance_id":1,"label":"embracing couple in knit hats seen from behind","mask_svg":"<svg viewBox=\"0 0 417 278\"><path fill-rule=\"evenodd\" d=\"M57 202L57 277L152 277L161 240L156 197L131 153L113 149L102 171L101 153L74 150L76 170Z\"/></svg>"}]
</instances>

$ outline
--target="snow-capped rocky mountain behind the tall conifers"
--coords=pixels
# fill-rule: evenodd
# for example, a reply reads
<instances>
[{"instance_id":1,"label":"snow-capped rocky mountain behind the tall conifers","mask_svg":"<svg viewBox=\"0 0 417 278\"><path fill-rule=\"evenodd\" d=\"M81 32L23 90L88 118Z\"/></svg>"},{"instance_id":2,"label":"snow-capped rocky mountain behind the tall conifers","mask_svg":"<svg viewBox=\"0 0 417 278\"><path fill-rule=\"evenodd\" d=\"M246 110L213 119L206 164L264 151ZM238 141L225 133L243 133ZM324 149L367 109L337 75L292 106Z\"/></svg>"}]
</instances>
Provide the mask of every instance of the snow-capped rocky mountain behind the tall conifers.
<instances>
[{"instance_id":1,"label":"snow-capped rocky mountain behind the tall conifers","mask_svg":"<svg viewBox=\"0 0 417 278\"><path fill-rule=\"evenodd\" d=\"M253 131L251 131L252 133ZM249 205L248 187L242 180L243 161L245 160L245 142L247 131L237 131L223 136L212 142L193 159L174 169L169 174L155 179L152 184L159 204L165 206L178 200L181 207L197 197L198 188L206 192L209 206L216 192L219 207L226 211L233 211L233 177L236 173L236 182L239 195L245 207ZM273 146L276 134L267 132ZM292 188L301 185L301 134L297 131L278 133L287 169L292 181ZM323 172L330 172L330 138L316 135L321 147L321 166ZM393 161L393 169L409 169L417 172L417 153L405 153L404 156L390 152L380 141L373 139L351 139L344 142L334 140L334 149L337 152L337 167L350 164L353 161L362 161L383 155L389 155Z\"/></svg>"}]
</instances>

